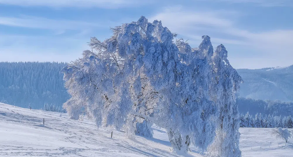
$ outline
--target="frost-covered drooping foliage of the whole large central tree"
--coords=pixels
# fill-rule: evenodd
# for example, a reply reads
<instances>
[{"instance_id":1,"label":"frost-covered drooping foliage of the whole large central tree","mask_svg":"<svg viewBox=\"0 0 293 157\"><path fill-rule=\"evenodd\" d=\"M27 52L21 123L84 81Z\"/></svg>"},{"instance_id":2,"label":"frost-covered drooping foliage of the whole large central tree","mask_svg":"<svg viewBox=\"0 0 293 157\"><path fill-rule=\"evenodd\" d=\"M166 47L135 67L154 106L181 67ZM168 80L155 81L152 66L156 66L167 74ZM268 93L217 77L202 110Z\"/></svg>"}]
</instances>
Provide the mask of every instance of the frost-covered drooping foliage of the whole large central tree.
<instances>
[{"instance_id":1,"label":"frost-covered drooping foliage of the whole large central tree","mask_svg":"<svg viewBox=\"0 0 293 157\"><path fill-rule=\"evenodd\" d=\"M134 133L151 137L155 123L166 128L173 150L185 153L191 144L206 150L219 143L213 137L222 126L221 149L238 152L235 94L241 77L223 45L214 53L208 36L199 48L183 39L173 42L176 34L161 21L149 23L143 16L112 31L103 42L91 38L92 51L62 70L72 96L64 103L71 118L84 107L98 127L124 130L131 139Z\"/></svg>"}]
</instances>

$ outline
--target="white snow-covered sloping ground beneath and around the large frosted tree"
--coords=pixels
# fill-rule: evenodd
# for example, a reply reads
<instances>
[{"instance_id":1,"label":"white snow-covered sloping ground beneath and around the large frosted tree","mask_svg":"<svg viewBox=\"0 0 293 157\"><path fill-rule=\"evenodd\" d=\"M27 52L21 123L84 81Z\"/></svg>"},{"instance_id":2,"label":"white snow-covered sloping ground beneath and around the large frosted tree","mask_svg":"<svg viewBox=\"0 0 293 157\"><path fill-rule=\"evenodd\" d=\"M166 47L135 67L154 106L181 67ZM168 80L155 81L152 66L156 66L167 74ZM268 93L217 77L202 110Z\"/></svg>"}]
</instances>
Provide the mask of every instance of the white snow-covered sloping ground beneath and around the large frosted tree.
<instances>
[{"instance_id":1,"label":"white snow-covered sloping ground beneath and around the large frosted tree","mask_svg":"<svg viewBox=\"0 0 293 157\"><path fill-rule=\"evenodd\" d=\"M293 145L285 146L283 140L271 136L270 130L240 128L242 156L293 156ZM178 156L171 149L165 130L155 126L154 138L136 136L130 140L123 132L97 129L90 120L81 122L68 119L64 113L0 103L0 156ZM187 156L204 156L195 148L191 150Z\"/></svg>"}]
</instances>

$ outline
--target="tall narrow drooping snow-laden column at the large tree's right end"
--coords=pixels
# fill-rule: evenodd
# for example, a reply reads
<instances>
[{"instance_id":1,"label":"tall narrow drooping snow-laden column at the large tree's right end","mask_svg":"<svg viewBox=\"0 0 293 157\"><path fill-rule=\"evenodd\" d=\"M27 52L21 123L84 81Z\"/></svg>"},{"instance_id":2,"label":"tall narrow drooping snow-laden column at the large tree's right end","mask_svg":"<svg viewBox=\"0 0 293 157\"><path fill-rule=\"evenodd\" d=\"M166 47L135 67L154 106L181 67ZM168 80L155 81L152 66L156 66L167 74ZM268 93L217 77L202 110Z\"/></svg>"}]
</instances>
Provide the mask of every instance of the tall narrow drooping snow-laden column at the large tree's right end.
<instances>
[{"instance_id":1,"label":"tall narrow drooping snow-laden column at the large tree's right end","mask_svg":"<svg viewBox=\"0 0 293 157\"><path fill-rule=\"evenodd\" d=\"M230 65L227 56L228 51L224 45L217 46L216 50L212 50L209 43L209 37L203 37L206 44L200 45L207 47L208 55L213 55L211 64L213 65L215 95L217 96L216 106L219 110L217 118L217 135L214 143L209 147L208 154L211 156L241 156L239 149L239 111L236 104L236 94L239 92L239 84L243 82L240 75Z\"/></svg>"}]
</instances>

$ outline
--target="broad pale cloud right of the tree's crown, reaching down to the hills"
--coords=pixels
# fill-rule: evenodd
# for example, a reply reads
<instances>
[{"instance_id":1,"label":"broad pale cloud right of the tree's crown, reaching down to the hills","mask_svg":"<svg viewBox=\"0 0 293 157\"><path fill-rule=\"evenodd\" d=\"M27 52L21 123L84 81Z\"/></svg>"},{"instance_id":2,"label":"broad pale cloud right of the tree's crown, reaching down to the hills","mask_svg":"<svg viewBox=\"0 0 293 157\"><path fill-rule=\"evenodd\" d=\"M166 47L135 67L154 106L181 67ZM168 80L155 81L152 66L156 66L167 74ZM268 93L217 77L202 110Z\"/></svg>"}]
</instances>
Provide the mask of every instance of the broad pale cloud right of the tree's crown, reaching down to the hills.
<instances>
[{"instance_id":1,"label":"broad pale cloud right of the tree's crown, reaching down to the hills","mask_svg":"<svg viewBox=\"0 0 293 157\"><path fill-rule=\"evenodd\" d=\"M186 8L166 9L149 19L161 20L171 31L189 38L189 43L195 47L202 35L209 35L213 44L229 45L231 63L237 68L293 64L288 60L288 57L293 58L293 29L255 32L237 27L225 11L192 11ZM262 59L264 61L260 61Z\"/></svg>"}]
</instances>

